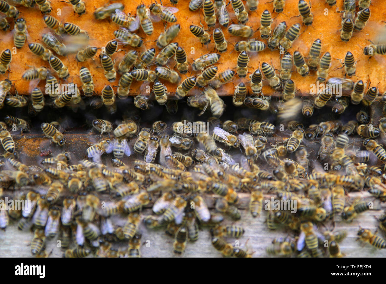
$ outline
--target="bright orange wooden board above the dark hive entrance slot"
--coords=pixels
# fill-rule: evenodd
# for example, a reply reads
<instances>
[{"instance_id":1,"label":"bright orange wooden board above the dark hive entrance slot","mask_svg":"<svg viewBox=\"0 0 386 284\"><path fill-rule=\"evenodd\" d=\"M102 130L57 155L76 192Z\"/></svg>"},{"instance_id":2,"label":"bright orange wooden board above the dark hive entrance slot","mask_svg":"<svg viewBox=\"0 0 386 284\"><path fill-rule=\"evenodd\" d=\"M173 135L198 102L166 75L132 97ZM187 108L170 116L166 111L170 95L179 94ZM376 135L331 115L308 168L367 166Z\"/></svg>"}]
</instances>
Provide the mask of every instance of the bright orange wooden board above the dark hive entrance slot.
<instances>
[{"instance_id":1,"label":"bright orange wooden board above the dark hive entrance slot","mask_svg":"<svg viewBox=\"0 0 386 284\"><path fill-rule=\"evenodd\" d=\"M88 31L90 35L91 46L97 46L101 48L105 46L105 44L114 39L113 31L119 29L119 27L111 22L109 19L105 20L96 20L93 16L93 11L96 7L103 6L108 4L107 1L97 1L97 0L88 0L86 1L86 14L78 16L78 14L74 14L71 5L60 2L60 1L51 1L52 2L52 11L51 15L56 17L61 22L72 22ZM116 1L115 1L116 2ZM343 10L342 5L343 0L337 1L337 6L329 7L325 1L311 1L312 4L312 12L314 14L314 21L312 27L302 26L300 37L294 42L293 47L289 49L290 53L293 54L294 51L300 50L305 56L308 55L309 48L312 42L320 38L322 41L322 54L325 52L330 52L333 57L332 66L330 69L330 77L342 77L343 69L336 70L341 66L338 59L343 60L347 51L351 51L355 59L357 60L357 77L352 77L354 81L362 78L364 81L371 81L371 85L375 86L379 83L379 90L383 92L386 89L386 85L384 82L385 71L384 66L386 60L383 56L374 56L370 60L368 60L368 56L363 54L363 48L369 44L367 40L372 40L377 43L377 36L379 33L379 27L382 20L385 20L385 15L383 13L383 1L382 0L373 0L371 9L371 18L367 24L367 26L361 32L354 32L352 39L348 43L342 42L340 40L340 28L341 28L341 13L339 11ZM151 0L144 0L143 3L145 5L150 5ZM173 40L174 42L178 42L180 46L182 46L188 54L188 61L190 63L193 60L197 59L203 54L209 52L216 52L214 48L214 44L211 43L208 46L202 46L198 39L194 37L190 30L189 26L191 24L199 24L200 20L203 21L203 15L201 11L191 12L188 10L187 0L181 0L176 5L179 11L176 13L176 17L178 19L177 23L181 25L181 32L178 36ZM140 4L140 1L125 1L125 9L124 12L130 13L135 16L136 7ZM169 5L164 3L164 5ZM284 12L277 14L274 12L272 14L274 20L272 24L272 28L274 28L278 23L285 21L287 27L291 26L295 23L301 23L300 17L295 17L299 15L298 12L298 0L287 0L284 8ZM227 6L227 10L231 16L231 20L236 22L235 15L232 10L232 5ZM27 21L27 28L29 32L29 38L27 39L27 43L39 42L41 43L41 35L43 33L49 32L49 28L46 27L41 12L35 8L26 8L26 7L18 7L20 10L20 17L24 17ZM261 40L260 32L257 29L260 27L260 17L262 12L268 9L272 12L273 4L269 3L269 1L261 0L259 1L259 5L257 11L249 13L249 22L247 23L249 26L252 26L254 30L256 30L253 37ZM60 14L59 14L60 13ZM9 19L9 18L8 18ZM11 20L11 19L9 19ZM218 23L217 26L218 27ZM168 25L168 27L170 24ZM206 24L204 24L205 29L207 29ZM13 28L13 24L11 24L11 29ZM154 22L154 32L151 36L146 36L142 30L138 31L138 35L144 37L144 44L141 48L137 48L136 50L141 53L147 48L155 47L154 41L159 36L160 32L164 30L162 22ZM225 34L228 44L227 52L221 54L221 58L217 64L218 72L231 68L235 70L236 60L238 53L233 50L233 46L235 42L242 40L240 37L231 36L227 29L222 27L222 31ZM213 28L208 29L209 34L212 36ZM30 94L29 84L21 80L21 76L24 71L30 66L46 66L49 67L47 62L42 61L36 55L32 54L27 46L27 43L21 49L15 49L13 44L13 37L10 31L3 32L0 31L0 35L2 37L2 41L0 41L0 51L9 48L14 52L12 54L12 63L10 65L10 70L12 73L7 73L7 77L12 80L15 84L16 90L18 90L19 94ZM252 37L252 38L253 38ZM213 42L213 39L212 39ZM124 56L124 53L132 50L131 47L124 47L121 49L123 51L113 54L112 58L115 60L115 66L117 68L120 60ZM157 48L157 53L159 49ZM110 84L112 86L118 85L119 77L115 82L109 83L103 74L103 70L99 68L100 60L98 58L100 51L98 51L97 55L92 59L83 63L77 63L74 55L68 56L68 58L59 56L59 58L63 61L64 65L67 65L69 68L70 77L68 78L68 82L77 83L79 86L81 85L79 75L79 68L81 66L86 66L90 69L93 80L95 83L95 91L96 94L100 94L102 88ZM280 59L279 50L271 51L268 48L260 53L251 53L251 61L249 62L249 72L253 73L254 70L258 66L261 66L262 62L271 63L273 62L274 67L277 70L280 70ZM173 68L175 65L174 60L171 60L169 63L170 68ZM151 69L154 70L155 66L151 66ZM191 70L191 68L190 68ZM51 70L52 71L52 70ZM193 72L192 75L198 75L199 73ZM190 71L188 72L190 75ZM0 75L0 80L5 79L6 77ZM181 76L182 80L186 78L185 75ZM248 78L248 77L247 77ZM295 69L292 73L292 78L296 84L296 88L299 90L298 95L309 95L311 84L316 82L316 74L311 73L308 77L301 77L298 73L296 73ZM249 80L249 79L248 79ZM235 77L234 80L230 83L227 83L220 89L218 89L219 95L232 95L234 93L234 86L237 85L240 81L247 82L247 79L239 79L239 77ZM67 82L63 82L67 83ZM266 84L266 83L265 83ZM142 82L135 82L131 86L130 95L139 94L140 87ZM170 83L165 83L169 92L174 92L176 85L171 85ZM45 82L40 82L39 87L44 90ZM152 87L152 84L151 84ZM114 87L114 90L116 88ZM195 90L191 91L191 94L195 94ZM273 92L273 89L269 86L264 86L263 92L266 95L280 95L279 93Z\"/></svg>"}]
</instances>

